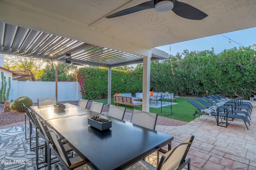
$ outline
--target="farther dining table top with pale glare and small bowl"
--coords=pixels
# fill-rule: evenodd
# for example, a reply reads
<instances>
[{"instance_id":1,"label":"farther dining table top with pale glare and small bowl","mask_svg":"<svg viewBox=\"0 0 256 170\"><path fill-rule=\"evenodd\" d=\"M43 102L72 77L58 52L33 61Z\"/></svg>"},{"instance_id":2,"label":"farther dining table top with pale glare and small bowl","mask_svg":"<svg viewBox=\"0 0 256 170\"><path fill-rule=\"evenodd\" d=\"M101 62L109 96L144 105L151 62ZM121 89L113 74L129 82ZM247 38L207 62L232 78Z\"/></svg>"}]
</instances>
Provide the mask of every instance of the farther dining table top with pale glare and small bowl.
<instances>
[{"instance_id":1,"label":"farther dining table top with pale glare and small bowl","mask_svg":"<svg viewBox=\"0 0 256 170\"><path fill-rule=\"evenodd\" d=\"M64 111L56 111L53 105L46 105L41 107L31 106L30 109L36 113L43 121L92 113L92 111L88 109L83 109L82 107L78 107L72 104L66 103L65 105L66 109Z\"/></svg>"}]
</instances>

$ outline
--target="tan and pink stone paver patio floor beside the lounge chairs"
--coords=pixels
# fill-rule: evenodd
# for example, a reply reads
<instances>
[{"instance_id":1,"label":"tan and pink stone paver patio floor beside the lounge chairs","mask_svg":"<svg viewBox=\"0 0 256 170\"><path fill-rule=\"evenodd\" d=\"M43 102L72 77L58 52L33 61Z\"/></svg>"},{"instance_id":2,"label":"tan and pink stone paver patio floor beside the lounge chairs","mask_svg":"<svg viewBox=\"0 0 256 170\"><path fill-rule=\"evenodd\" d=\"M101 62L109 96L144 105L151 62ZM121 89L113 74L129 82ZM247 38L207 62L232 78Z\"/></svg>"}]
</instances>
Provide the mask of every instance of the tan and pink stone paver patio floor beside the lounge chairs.
<instances>
[{"instance_id":1,"label":"tan and pink stone paver patio floor beside the lounge chairs","mask_svg":"<svg viewBox=\"0 0 256 170\"><path fill-rule=\"evenodd\" d=\"M106 114L106 113L104 113ZM126 113L125 121L130 121L132 113ZM256 108L251 115L249 130L239 119L230 125L216 125L214 116L203 115L194 121L183 122L166 117L158 117L156 131L174 136L172 147L190 135L195 139L188 157L194 170L256 170ZM24 122L0 127L24 125Z\"/></svg>"}]
</instances>

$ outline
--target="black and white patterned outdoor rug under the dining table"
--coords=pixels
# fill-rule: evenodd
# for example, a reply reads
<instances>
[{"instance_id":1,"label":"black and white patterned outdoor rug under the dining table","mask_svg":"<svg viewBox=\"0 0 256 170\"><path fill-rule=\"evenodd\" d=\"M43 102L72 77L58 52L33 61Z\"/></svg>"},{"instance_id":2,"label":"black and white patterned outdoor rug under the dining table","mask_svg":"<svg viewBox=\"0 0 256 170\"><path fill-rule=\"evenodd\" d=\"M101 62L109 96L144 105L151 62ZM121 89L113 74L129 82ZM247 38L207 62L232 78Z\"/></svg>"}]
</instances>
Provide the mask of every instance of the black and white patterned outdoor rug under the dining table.
<instances>
[{"instance_id":1,"label":"black and white patterned outdoor rug under the dining table","mask_svg":"<svg viewBox=\"0 0 256 170\"><path fill-rule=\"evenodd\" d=\"M28 138L29 126L27 125L26 128ZM35 134L33 128L32 137ZM44 144L44 140L39 137L39 145L42 144ZM32 147L35 145L36 140L32 138ZM156 166L156 157L155 152L147 156L145 160ZM41 148L39 149L39 162L43 161L44 148ZM57 162L52 164L51 169L64 170L64 166ZM36 151L30 151L29 139L25 139L25 125L0 129L0 170L36 170Z\"/></svg>"}]
</instances>

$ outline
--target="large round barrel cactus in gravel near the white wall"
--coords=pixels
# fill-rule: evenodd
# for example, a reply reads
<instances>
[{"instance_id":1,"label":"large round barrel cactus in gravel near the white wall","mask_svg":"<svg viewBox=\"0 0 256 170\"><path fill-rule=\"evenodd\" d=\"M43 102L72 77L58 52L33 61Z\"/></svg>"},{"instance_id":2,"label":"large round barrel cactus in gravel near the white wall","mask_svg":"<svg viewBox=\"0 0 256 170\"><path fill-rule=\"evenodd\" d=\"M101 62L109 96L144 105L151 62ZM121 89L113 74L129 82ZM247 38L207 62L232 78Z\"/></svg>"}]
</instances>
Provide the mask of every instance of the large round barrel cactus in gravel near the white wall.
<instances>
[{"instance_id":1,"label":"large round barrel cactus in gravel near the white wall","mask_svg":"<svg viewBox=\"0 0 256 170\"><path fill-rule=\"evenodd\" d=\"M30 107L33 104L33 101L26 96L17 98L12 104L10 105L10 109L18 110L18 111L24 111L21 104L24 104L26 107Z\"/></svg>"}]
</instances>

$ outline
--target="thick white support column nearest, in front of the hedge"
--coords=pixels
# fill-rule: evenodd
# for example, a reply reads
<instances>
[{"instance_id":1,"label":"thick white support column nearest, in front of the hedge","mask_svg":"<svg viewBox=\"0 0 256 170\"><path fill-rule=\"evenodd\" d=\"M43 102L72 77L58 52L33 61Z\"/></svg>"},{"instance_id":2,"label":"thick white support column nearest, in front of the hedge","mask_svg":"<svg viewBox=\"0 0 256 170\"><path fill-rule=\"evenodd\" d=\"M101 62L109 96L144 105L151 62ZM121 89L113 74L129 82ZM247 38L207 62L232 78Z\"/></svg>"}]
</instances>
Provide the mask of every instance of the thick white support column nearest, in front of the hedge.
<instances>
[{"instance_id":1,"label":"thick white support column nearest, in front of the hedge","mask_svg":"<svg viewBox=\"0 0 256 170\"><path fill-rule=\"evenodd\" d=\"M148 51L148 56L143 57L143 80L142 80L142 111L149 111L150 98L150 59L152 50Z\"/></svg>"}]
</instances>

